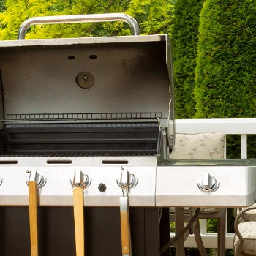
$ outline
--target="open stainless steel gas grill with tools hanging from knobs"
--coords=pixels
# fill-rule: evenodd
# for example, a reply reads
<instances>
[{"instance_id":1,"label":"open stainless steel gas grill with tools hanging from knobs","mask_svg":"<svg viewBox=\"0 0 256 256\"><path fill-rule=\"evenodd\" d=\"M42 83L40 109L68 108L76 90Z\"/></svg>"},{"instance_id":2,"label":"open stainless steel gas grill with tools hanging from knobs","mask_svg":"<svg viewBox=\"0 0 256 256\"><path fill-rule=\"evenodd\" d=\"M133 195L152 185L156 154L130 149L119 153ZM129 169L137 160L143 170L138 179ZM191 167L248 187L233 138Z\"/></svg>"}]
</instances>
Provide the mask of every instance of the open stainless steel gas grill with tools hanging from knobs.
<instances>
[{"instance_id":1,"label":"open stainless steel gas grill with tools hanging from knobs","mask_svg":"<svg viewBox=\"0 0 256 256\"><path fill-rule=\"evenodd\" d=\"M134 35L23 38L32 24L106 20L127 22ZM41 17L23 23L19 40L0 42L1 255L156 256L170 240L159 208L255 202L249 161L223 170L169 160L170 38L138 31L121 14ZM212 192L197 186L200 176L213 184L207 173ZM227 195L236 200L219 201Z\"/></svg>"}]
</instances>

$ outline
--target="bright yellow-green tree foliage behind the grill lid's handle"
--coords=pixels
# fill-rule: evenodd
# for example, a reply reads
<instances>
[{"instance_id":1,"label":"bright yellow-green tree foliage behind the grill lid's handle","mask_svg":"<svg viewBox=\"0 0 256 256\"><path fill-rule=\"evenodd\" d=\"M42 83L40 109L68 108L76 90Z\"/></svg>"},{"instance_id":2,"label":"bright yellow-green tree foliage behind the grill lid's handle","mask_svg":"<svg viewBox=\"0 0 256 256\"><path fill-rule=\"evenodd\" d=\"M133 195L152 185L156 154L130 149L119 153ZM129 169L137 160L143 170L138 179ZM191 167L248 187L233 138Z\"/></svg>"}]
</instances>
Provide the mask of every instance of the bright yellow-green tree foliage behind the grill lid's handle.
<instances>
[{"instance_id":1,"label":"bright yellow-green tree foliage behind the grill lid's handle","mask_svg":"<svg viewBox=\"0 0 256 256\"><path fill-rule=\"evenodd\" d=\"M6 0L0 13L0 39L16 39L23 21L35 16L123 12L140 24L141 34L167 33L173 4L167 0ZM116 23L72 23L31 26L26 39L92 37L130 34L129 26Z\"/></svg>"}]
</instances>

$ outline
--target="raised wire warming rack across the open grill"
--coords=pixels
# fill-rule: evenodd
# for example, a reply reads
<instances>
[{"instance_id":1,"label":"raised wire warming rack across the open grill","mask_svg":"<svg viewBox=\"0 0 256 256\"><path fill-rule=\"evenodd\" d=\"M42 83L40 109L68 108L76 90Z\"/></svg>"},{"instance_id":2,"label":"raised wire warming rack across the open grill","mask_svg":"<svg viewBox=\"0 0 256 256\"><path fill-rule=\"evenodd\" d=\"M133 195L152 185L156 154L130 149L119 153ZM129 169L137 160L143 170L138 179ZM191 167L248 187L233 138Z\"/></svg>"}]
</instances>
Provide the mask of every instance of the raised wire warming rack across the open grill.
<instances>
[{"instance_id":1,"label":"raised wire warming rack across the open grill","mask_svg":"<svg viewBox=\"0 0 256 256\"><path fill-rule=\"evenodd\" d=\"M70 121L70 120L127 120L159 119L162 112L119 112L119 113L30 113L7 114L1 121Z\"/></svg>"}]
</instances>

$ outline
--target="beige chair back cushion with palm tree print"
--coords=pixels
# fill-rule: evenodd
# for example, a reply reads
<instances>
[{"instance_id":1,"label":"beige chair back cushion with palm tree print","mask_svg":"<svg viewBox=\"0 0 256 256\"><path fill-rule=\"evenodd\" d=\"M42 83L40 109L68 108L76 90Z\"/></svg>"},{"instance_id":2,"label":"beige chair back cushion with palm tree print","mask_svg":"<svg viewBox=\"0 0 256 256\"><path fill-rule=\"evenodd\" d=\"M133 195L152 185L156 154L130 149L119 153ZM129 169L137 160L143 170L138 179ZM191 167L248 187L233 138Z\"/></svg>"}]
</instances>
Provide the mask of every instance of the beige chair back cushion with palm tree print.
<instances>
[{"instance_id":1,"label":"beige chair back cushion with palm tree print","mask_svg":"<svg viewBox=\"0 0 256 256\"><path fill-rule=\"evenodd\" d=\"M225 132L176 133L170 159L222 159Z\"/></svg>"}]
</instances>

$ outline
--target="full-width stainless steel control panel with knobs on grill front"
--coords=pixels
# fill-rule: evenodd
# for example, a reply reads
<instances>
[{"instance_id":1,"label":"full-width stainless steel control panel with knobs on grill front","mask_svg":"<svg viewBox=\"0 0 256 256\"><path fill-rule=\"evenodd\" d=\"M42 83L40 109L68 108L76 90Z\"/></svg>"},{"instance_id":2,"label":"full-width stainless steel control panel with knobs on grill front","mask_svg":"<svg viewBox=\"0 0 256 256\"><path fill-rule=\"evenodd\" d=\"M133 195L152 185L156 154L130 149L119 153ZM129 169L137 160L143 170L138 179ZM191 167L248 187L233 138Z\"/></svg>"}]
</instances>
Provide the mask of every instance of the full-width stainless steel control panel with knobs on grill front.
<instances>
[{"instance_id":1,"label":"full-width stainless steel control panel with knobs on grill front","mask_svg":"<svg viewBox=\"0 0 256 256\"><path fill-rule=\"evenodd\" d=\"M72 189L83 187L84 206L119 207L126 185L135 207L234 207L256 199L254 166L157 166L146 156L10 157L0 165L1 206L29 205L27 172L37 174L39 206L73 206Z\"/></svg>"}]
</instances>

